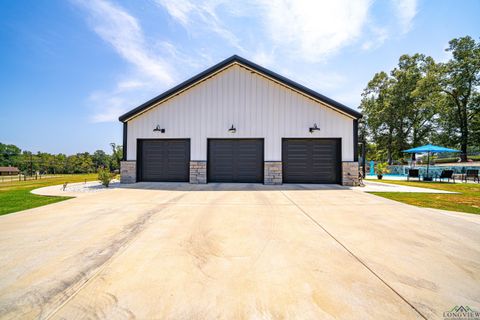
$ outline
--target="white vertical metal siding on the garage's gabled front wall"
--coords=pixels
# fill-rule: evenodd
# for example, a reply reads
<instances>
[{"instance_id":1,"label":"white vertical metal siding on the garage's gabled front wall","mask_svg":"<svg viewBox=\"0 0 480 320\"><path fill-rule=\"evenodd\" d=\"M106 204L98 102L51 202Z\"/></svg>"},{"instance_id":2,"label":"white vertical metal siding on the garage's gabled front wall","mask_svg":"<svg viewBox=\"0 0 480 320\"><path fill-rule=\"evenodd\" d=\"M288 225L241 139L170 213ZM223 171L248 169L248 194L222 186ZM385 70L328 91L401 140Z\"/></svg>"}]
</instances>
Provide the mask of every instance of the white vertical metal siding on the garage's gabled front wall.
<instances>
[{"instance_id":1,"label":"white vertical metal siding on the garage's gabled front wall","mask_svg":"<svg viewBox=\"0 0 480 320\"><path fill-rule=\"evenodd\" d=\"M310 134L314 123L320 131ZM166 133L153 132L157 124ZM282 138L315 137L342 138L342 160L353 160L350 117L233 65L129 120L127 159L136 159L141 138L190 138L192 160L207 159L208 138L264 138L265 161L281 161Z\"/></svg>"}]
</instances>

